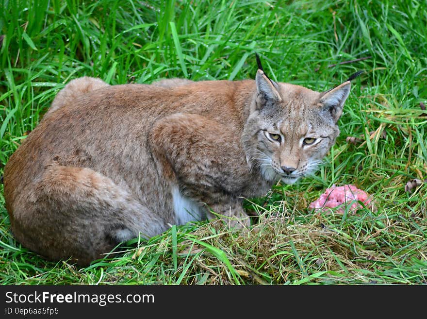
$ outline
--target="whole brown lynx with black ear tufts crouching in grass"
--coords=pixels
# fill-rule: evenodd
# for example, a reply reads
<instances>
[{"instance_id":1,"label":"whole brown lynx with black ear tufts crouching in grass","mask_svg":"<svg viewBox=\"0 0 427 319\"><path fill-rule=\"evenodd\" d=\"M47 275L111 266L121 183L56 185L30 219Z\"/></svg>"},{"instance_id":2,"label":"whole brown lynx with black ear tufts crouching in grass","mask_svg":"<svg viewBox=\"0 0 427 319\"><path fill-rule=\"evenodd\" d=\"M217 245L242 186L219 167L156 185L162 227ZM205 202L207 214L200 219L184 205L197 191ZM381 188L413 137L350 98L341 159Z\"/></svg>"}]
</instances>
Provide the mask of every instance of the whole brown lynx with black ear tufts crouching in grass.
<instances>
[{"instance_id":1,"label":"whole brown lynx with black ear tufts crouching in grass","mask_svg":"<svg viewBox=\"0 0 427 319\"><path fill-rule=\"evenodd\" d=\"M259 68L255 81L71 81L5 167L16 239L85 265L212 212L248 225L241 197L295 183L334 144L351 80L318 93Z\"/></svg>"}]
</instances>

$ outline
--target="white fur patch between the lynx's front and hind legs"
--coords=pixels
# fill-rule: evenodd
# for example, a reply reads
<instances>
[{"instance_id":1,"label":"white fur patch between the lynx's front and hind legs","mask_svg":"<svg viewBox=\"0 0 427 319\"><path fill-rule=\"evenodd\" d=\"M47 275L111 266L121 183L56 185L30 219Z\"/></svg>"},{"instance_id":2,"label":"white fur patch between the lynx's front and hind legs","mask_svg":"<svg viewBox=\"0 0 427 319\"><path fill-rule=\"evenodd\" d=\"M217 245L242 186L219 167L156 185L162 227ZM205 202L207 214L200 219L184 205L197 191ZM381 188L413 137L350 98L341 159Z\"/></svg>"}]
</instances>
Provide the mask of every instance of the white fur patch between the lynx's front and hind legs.
<instances>
[{"instance_id":1,"label":"white fur patch between the lynx's front and hind legs","mask_svg":"<svg viewBox=\"0 0 427 319\"><path fill-rule=\"evenodd\" d=\"M178 187L172 189L172 199L175 210L175 222L184 225L189 221L197 221L206 218L203 209L191 199L181 195Z\"/></svg>"}]
</instances>

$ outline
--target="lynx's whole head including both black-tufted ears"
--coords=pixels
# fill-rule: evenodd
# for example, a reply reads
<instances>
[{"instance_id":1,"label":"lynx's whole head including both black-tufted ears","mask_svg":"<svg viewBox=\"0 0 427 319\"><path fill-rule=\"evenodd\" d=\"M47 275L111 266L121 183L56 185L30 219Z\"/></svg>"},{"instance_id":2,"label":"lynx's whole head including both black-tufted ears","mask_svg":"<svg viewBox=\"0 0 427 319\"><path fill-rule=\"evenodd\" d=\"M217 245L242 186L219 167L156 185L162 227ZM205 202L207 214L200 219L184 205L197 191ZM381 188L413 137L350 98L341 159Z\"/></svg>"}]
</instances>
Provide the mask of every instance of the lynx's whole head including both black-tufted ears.
<instances>
[{"instance_id":1,"label":"lynx's whole head including both black-tufted ears","mask_svg":"<svg viewBox=\"0 0 427 319\"><path fill-rule=\"evenodd\" d=\"M355 76L319 93L276 83L259 63L257 91L242 134L249 167L259 167L266 180L285 184L313 173L340 133L337 122Z\"/></svg>"}]
</instances>

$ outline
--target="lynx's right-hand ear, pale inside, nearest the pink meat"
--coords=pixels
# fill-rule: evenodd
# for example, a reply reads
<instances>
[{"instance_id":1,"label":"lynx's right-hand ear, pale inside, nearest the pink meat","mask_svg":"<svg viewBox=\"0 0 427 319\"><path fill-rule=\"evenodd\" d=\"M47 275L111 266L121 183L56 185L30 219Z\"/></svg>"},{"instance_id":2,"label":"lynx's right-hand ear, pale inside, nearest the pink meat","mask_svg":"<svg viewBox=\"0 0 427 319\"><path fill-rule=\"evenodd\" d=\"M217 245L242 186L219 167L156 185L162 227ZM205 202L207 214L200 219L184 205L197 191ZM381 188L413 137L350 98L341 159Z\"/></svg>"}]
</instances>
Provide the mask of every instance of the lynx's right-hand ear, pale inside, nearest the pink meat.
<instances>
[{"instance_id":1,"label":"lynx's right-hand ear, pale inside, nearest the pink meat","mask_svg":"<svg viewBox=\"0 0 427 319\"><path fill-rule=\"evenodd\" d=\"M320 102L323 104L322 108L330 113L335 123L343 114L343 105L350 93L350 86L350 81L346 81L326 91L320 98Z\"/></svg>"}]
</instances>

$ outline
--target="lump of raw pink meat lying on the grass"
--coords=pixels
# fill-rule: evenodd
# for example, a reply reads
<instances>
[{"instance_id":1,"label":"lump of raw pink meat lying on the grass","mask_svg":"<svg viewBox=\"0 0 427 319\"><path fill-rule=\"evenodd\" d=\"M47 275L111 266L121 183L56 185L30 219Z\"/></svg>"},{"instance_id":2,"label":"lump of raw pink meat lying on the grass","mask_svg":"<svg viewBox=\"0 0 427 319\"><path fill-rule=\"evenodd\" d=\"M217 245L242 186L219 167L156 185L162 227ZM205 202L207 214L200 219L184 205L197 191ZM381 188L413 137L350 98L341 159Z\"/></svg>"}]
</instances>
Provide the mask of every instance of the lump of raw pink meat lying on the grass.
<instances>
[{"instance_id":1,"label":"lump of raw pink meat lying on the grass","mask_svg":"<svg viewBox=\"0 0 427 319\"><path fill-rule=\"evenodd\" d=\"M320 195L320 198L313 201L309 208L326 210L325 207L334 208L342 205L336 210L338 213L344 213L345 206L347 211L356 212L361 208L361 201L367 206L371 203L372 198L363 190L357 188L354 185L335 186L327 188L326 191ZM343 205L345 204L345 205Z\"/></svg>"}]
</instances>

